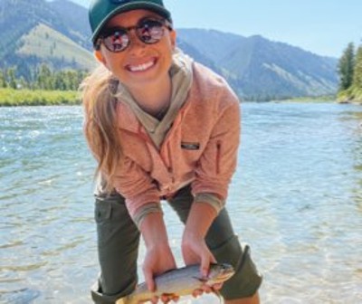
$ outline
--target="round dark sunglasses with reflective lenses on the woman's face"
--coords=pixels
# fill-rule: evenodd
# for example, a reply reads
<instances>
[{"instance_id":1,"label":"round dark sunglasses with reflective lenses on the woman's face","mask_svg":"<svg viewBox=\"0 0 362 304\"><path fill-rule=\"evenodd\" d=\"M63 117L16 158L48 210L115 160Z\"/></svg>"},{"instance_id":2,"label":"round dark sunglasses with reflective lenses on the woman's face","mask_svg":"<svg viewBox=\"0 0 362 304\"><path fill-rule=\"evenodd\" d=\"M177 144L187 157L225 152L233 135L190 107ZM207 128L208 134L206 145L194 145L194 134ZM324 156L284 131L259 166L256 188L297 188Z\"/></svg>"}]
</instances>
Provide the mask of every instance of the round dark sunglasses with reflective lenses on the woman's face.
<instances>
[{"instance_id":1,"label":"round dark sunglasses with reflective lenses on the woman's face","mask_svg":"<svg viewBox=\"0 0 362 304\"><path fill-rule=\"evenodd\" d=\"M129 47L129 32L136 31L138 39L142 43L158 43L165 34L165 27L172 31L171 24L165 19L143 18L135 26L111 27L100 33L94 47L100 50L100 43L110 52L123 52Z\"/></svg>"}]
</instances>

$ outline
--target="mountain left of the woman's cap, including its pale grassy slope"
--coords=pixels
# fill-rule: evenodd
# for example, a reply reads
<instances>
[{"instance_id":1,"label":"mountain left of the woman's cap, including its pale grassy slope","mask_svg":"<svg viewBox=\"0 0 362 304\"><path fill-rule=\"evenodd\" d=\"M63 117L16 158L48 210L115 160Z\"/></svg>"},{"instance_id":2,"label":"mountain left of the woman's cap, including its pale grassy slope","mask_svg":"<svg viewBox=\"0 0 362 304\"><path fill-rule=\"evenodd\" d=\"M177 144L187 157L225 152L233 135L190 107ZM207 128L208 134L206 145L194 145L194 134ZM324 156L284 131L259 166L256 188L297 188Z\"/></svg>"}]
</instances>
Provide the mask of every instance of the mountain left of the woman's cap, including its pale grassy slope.
<instances>
[{"instance_id":1,"label":"mountain left of the woman's cap, including its pale grassy slope","mask_svg":"<svg viewBox=\"0 0 362 304\"><path fill-rule=\"evenodd\" d=\"M44 0L0 0L1 66L16 65L25 78L30 77L32 67L43 62L54 69L91 69L94 59L84 36L88 29L78 31L81 24L62 17L70 10L79 14L86 10L71 2L64 5Z\"/></svg>"}]
</instances>

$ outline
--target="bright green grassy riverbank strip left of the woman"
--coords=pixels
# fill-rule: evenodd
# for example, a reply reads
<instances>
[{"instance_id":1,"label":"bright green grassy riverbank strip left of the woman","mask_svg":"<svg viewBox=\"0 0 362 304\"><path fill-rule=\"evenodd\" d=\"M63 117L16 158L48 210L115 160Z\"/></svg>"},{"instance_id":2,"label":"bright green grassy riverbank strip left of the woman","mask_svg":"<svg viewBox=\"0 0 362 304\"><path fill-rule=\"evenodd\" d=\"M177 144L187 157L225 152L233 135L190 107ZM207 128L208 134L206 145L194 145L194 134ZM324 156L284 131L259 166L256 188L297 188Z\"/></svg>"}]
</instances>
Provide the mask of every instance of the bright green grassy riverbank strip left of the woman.
<instances>
[{"instance_id":1,"label":"bright green grassy riverbank strip left of the woman","mask_svg":"<svg viewBox=\"0 0 362 304\"><path fill-rule=\"evenodd\" d=\"M54 106L81 104L76 90L0 89L0 107Z\"/></svg>"}]
</instances>

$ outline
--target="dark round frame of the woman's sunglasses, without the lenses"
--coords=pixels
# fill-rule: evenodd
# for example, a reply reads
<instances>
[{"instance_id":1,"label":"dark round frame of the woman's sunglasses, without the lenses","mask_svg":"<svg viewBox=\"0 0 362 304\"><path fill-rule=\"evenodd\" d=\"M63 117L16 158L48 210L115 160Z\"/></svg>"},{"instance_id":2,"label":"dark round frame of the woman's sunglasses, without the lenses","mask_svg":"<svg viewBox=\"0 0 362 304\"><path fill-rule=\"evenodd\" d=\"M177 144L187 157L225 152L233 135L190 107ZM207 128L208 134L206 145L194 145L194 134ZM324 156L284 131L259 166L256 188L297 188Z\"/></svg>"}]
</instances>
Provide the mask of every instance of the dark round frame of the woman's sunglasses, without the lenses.
<instances>
[{"instance_id":1,"label":"dark round frame of the woman's sunglasses, without the lenses","mask_svg":"<svg viewBox=\"0 0 362 304\"><path fill-rule=\"evenodd\" d=\"M125 50L127 50L129 48L129 45L131 43L130 39L129 39L129 42L127 43L127 45L123 49L121 49L119 51L110 50L110 48L107 46L107 43L104 43L105 39L112 36L114 33L121 32L121 31L123 31L129 37L129 32L132 31L132 30L136 30L136 36L137 36L137 38L138 38L138 40L140 42L145 43L145 44L158 43L161 40L161 38L165 35L164 29L162 29L163 32L161 34L161 38L156 40L156 41L153 41L153 42L145 41L144 39L142 39L142 36L138 33L138 30L142 29L144 24L146 22L148 22L148 21L157 22L157 23L160 24L160 27L162 27L162 28L166 27L167 30L173 31L172 24L167 19L160 19L160 18L155 18L155 17L145 17L145 18L142 18L142 19L138 20L138 23L136 25L133 25L133 26L129 26L129 27L117 26L117 27L111 27L109 29L105 29L104 31L102 31L102 33L100 33L99 37L96 40L96 43L94 43L94 49L96 51L99 51L100 50L100 44L103 43L104 46L106 47L106 49L108 51L110 51L110 52L124 52Z\"/></svg>"}]
</instances>

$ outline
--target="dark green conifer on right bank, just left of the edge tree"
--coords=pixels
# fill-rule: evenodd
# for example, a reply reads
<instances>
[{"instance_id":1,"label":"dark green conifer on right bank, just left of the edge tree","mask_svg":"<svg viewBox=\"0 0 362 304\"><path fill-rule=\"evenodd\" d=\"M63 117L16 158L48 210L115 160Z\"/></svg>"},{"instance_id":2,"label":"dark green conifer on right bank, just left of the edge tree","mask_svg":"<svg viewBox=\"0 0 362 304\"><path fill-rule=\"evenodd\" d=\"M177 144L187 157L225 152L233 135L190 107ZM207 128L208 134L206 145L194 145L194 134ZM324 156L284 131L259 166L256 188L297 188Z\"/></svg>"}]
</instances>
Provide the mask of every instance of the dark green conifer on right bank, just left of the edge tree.
<instances>
[{"instance_id":1,"label":"dark green conifer on right bank, just left of the edge tree","mask_svg":"<svg viewBox=\"0 0 362 304\"><path fill-rule=\"evenodd\" d=\"M352 85L354 63L355 46L353 43L348 43L348 47L338 62L339 90L347 90Z\"/></svg>"}]
</instances>

